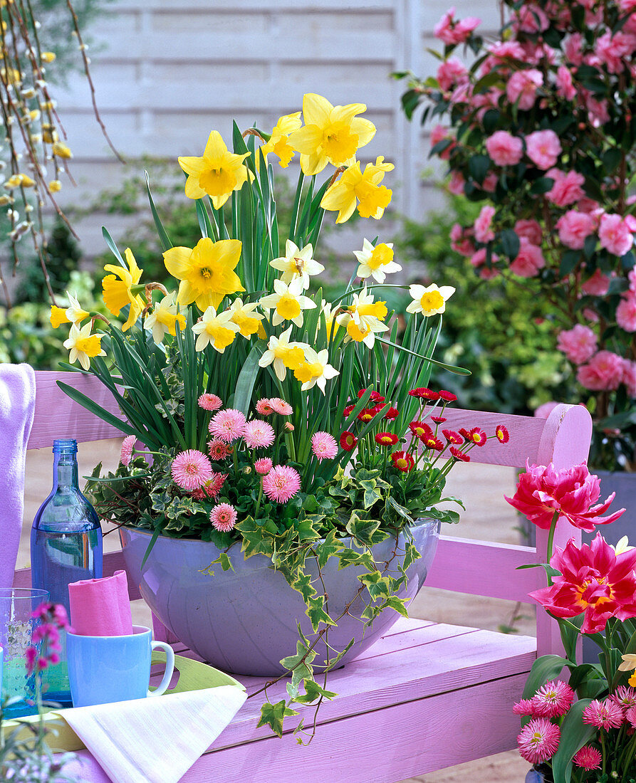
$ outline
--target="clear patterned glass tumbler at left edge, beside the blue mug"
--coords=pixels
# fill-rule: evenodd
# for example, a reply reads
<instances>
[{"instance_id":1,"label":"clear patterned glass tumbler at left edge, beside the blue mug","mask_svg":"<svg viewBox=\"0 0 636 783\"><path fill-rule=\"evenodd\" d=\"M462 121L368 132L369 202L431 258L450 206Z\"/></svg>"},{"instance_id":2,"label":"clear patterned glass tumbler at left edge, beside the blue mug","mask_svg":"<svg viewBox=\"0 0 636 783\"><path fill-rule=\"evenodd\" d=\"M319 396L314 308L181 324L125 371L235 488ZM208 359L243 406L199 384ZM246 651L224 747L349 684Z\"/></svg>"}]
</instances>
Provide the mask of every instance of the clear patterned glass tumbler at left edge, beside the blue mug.
<instances>
[{"instance_id":1,"label":"clear patterned glass tumbler at left edge, beside the blue mug","mask_svg":"<svg viewBox=\"0 0 636 783\"><path fill-rule=\"evenodd\" d=\"M33 631L40 622L31 615L45 601L49 601L48 590L0 588L0 647L4 657L2 700L13 697L20 699L5 710L6 718L37 712L35 675L27 673L26 652L33 644Z\"/></svg>"}]
</instances>

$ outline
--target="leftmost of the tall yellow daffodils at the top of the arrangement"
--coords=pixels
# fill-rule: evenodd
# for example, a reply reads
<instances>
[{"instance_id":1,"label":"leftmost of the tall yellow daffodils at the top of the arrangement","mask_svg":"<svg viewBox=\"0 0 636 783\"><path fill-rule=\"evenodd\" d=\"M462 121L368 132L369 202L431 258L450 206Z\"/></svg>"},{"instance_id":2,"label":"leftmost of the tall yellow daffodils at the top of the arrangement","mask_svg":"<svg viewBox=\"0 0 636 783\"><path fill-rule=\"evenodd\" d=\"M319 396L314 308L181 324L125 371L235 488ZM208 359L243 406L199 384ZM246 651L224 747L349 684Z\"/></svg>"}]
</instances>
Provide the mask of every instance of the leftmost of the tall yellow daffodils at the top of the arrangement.
<instances>
[{"instance_id":1,"label":"leftmost of the tall yellow daffodils at the top of the arrangement","mask_svg":"<svg viewBox=\"0 0 636 783\"><path fill-rule=\"evenodd\" d=\"M233 190L240 190L248 179L243 161L250 153L235 155L228 151L218 131L212 131L203 157L179 157L179 166L186 172L186 196L211 197L215 209L226 203Z\"/></svg>"}]
</instances>

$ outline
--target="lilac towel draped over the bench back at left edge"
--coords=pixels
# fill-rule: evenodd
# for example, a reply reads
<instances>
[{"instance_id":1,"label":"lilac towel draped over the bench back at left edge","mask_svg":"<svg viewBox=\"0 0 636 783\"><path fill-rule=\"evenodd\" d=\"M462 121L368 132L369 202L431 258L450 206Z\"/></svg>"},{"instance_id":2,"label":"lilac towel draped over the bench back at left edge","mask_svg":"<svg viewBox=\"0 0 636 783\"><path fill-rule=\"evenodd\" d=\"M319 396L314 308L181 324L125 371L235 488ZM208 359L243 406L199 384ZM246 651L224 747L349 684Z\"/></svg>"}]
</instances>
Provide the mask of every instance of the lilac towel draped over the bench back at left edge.
<instances>
[{"instance_id":1,"label":"lilac towel draped over the bench back at left edge","mask_svg":"<svg viewBox=\"0 0 636 783\"><path fill-rule=\"evenodd\" d=\"M13 584L22 517L27 441L35 410L35 373L28 364L0 364L0 587Z\"/></svg>"}]
</instances>

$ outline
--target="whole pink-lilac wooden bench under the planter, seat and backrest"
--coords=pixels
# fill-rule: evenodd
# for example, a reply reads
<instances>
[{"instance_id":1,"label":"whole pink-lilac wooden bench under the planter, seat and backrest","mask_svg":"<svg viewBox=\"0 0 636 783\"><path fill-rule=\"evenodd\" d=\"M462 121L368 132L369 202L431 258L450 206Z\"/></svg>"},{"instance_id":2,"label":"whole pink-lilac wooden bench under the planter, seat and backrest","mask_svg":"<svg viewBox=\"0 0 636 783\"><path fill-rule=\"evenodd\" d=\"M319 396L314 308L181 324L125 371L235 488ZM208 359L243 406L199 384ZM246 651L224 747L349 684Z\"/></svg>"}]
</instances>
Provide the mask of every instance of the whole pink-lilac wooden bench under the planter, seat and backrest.
<instances>
[{"instance_id":1,"label":"whole pink-lilac wooden bench under the planter, seat and backrest","mask_svg":"<svg viewBox=\"0 0 636 783\"><path fill-rule=\"evenodd\" d=\"M79 442L121 438L117 430L71 402L55 383L63 379L118 413L109 392L95 379L52 372L38 372L36 378L29 448L49 448L55 437ZM446 415L453 428L475 424L472 411L449 409ZM558 406L547 420L477 415L488 431L505 424L511 441L507 446L489 441L482 449L473 449L476 462L521 467L528 458L531 464L552 461L566 467L587 458L591 419L583 407ZM539 552L544 553L546 533L537 534ZM580 532L564 525L555 543L562 546L569 537L580 541ZM443 536L426 584L526 601L529 590L543 585L544 572L515 568L536 561L537 550L531 547ZM104 572L110 574L123 565L121 553L109 554ZM30 585L30 580L28 569L16 572L16 586ZM130 585L130 596L139 597L136 585ZM161 623L155 633L165 633ZM174 647L181 655L189 654L182 644ZM297 718L282 740L269 736L265 728L257 729L260 702L248 699L182 781L395 783L514 749L519 718L512 714L511 705L521 695L537 647L540 655L560 650L556 623L542 610L537 612L537 639L400 619L360 659L333 673L330 687L338 698L320 710L320 727L309 746L297 745L291 734ZM251 692L264 682L251 677L240 680ZM272 698L278 691L284 694L284 684L271 689ZM89 752L81 754L96 767L93 779L107 781L99 777L100 768Z\"/></svg>"}]
</instances>

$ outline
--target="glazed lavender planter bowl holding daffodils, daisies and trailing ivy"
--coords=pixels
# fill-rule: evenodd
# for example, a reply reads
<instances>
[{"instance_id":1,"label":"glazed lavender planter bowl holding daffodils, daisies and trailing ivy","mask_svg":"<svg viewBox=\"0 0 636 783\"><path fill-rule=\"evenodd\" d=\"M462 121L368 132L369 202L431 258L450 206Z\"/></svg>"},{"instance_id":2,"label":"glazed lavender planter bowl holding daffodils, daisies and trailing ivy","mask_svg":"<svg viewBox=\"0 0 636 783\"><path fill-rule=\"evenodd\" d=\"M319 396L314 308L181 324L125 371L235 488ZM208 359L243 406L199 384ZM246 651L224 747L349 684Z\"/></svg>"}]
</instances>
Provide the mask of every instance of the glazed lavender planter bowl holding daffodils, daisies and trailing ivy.
<instances>
[{"instance_id":1,"label":"glazed lavender planter bowl holding daffodils, daisies and trailing ivy","mask_svg":"<svg viewBox=\"0 0 636 783\"><path fill-rule=\"evenodd\" d=\"M421 558L408 568L407 587L399 593L407 601L415 597L431 567L439 538L439 521L418 520L410 532ZM236 674L278 676L285 671L280 659L295 654L298 623L312 640L314 634L302 597L264 555L245 559L240 547L235 545L228 552L233 571L223 571L220 565L215 565L213 574L202 573L219 555L213 543L159 536L142 566L151 533L121 528L120 536L126 569L133 582L139 584L146 603L183 644L211 666ZM400 534L397 550L400 558L403 558L404 543ZM375 544L376 562L388 561L395 547L395 538ZM317 583L317 565L310 558L307 570ZM322 568L332 617L337 617L356 596L360 573L363 569L353 566L338 571L337 557L330 557ZM399 571L391 568L390 574L397 577ZM355 640L341 659L343 665L370 647L399 618L398 612L386 609L373 626L365 628L360 615L369 598L365 590L349 609L351 616L345 615L337 627L329 630L330 647L338 651ZM320 665L327 653L322 640L316 645L316 651L318 655L313 663Z\"/></svg>"}]
</instances>

